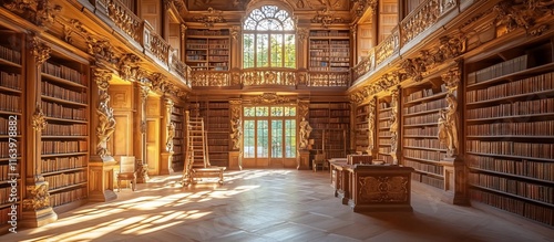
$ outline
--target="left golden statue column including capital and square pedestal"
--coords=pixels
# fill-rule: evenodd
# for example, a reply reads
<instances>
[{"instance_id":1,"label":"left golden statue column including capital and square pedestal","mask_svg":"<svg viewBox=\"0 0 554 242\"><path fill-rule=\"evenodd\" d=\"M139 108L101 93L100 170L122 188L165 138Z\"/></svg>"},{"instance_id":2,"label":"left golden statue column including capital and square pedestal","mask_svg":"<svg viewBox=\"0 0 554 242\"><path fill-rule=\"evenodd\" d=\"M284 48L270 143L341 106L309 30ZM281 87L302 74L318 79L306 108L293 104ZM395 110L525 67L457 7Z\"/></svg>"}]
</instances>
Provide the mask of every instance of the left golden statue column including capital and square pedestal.
<instances>
[{"instance_id":1,"label":"left golden statue column including capital and square pedestal","mask_svg":"<svg viewBox=\"0 0 554 242\"><path fill-rule=\"evenodd\" d=\"M115 118L110 107L110 80L112 72L96 66L91 85L92 104L98 104L91 115L91 159L89 162L89 200L109 201L117 198L114 186L115 159L107 149L107 141L115 130ZM98 95L94 95L98 94Z\"/></svg>"}]
</instances>

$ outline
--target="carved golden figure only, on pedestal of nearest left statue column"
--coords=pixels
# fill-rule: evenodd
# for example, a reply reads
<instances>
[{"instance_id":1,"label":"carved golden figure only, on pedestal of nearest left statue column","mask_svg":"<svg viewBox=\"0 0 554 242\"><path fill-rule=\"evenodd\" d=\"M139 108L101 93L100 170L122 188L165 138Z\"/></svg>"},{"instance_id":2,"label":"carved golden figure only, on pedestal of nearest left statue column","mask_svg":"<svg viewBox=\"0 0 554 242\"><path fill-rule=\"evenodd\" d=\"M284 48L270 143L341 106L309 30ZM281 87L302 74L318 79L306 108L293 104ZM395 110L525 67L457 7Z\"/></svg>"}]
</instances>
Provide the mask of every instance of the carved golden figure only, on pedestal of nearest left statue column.
<instances>
[{"instance_id":1,"label":"carved golden figure only, on pedestal of nearest left statue column","mask_svg":"<svg viewBox=\"0 0 554 242\"><path fill-rule=\"evenodd\" d=\"M115 118L113 117L113 108L109 106L110 95L107 92L102 92L100 95L100 105L96 109L99 115L99 126L96 127L96 136L99 138L96 145L96 154L104 158L110 156L107 150L107 141L110 140L113 131L115 131Z\"/></svg>"}]
</instances>

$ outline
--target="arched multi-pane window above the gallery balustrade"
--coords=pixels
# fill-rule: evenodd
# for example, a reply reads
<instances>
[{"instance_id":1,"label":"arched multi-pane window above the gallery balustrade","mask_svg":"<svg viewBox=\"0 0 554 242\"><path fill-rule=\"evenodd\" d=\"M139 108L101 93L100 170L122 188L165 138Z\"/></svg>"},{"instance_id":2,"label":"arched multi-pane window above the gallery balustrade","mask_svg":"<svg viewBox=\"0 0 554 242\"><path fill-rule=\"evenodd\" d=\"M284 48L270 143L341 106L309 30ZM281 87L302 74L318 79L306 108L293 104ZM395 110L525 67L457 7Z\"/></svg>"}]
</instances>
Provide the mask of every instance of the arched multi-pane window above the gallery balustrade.
<instances>
[{"instance_id":1,"label":"arched multi-pane window above the gallery balustrade","mask_svg":"<svg viewBox=\"0 0 554 242\"><path fill-rule=\"evenodd\" d=\"M295 27L287 11L264 6L244 22L243 69L296 67Z\"/></svg>"}]
</instances>

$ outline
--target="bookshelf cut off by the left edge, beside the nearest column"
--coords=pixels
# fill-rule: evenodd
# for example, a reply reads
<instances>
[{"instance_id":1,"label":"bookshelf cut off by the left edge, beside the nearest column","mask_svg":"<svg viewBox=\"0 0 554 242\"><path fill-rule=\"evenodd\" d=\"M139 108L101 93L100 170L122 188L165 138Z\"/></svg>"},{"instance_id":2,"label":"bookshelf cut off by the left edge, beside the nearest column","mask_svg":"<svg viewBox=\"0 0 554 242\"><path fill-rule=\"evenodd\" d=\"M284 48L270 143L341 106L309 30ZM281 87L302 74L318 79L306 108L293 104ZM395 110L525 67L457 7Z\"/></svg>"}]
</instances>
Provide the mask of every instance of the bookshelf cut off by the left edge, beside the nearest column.
<instances>
[{"instance_id":1,"label":"bookshelf cut off by the left edge, beside the nearest column","mask_svg":"<svg viewBox=\"0 0 554 242\"><path fill-rule=\"evenodd\" d=\"M24 134L24 80L20 34L0 30L0 234L12 228L12 206L16 206L17 219L22 213L22 189L24 189L23 154L25 154ZM11 40L11 41L10 41ZM19 40L19 41L17 41ZM12 191L12 179L16 190ZM16 197L13 197L16 196Z\"/></svg>"}]
</instances>

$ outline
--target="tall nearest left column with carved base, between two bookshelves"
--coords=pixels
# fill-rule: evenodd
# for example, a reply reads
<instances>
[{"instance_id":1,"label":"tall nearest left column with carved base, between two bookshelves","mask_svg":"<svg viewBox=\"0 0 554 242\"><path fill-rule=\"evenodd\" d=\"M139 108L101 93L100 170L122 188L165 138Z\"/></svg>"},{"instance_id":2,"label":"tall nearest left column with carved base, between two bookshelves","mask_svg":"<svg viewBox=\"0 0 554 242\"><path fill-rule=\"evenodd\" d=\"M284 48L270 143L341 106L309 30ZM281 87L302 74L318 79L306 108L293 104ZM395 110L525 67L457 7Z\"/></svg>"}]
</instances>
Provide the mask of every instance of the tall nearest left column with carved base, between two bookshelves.
<instances>
[{"instance_id":1,"label":"tall nearest left column with carved base, between two bookshelves","mask_svg":"<svg viewBox=\"0 0 554 242\"><path fill-rule=\"evenodd\" d=\"M25 43L23 43L25 44ZM50 57L51 49L37 36L31 36L23 46L27 61L25 88L27 106L24 125L32 127L27 133L25 189L23 191L23 212L21 227L41 227L58 220L58 214L50 206L49 183L42 176L42 130L47 127L45 116L41 107L41 66Z\"/></svg>"}]
</instances>

